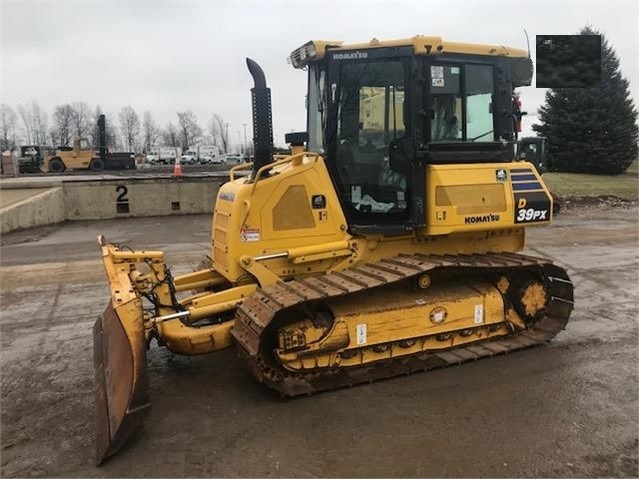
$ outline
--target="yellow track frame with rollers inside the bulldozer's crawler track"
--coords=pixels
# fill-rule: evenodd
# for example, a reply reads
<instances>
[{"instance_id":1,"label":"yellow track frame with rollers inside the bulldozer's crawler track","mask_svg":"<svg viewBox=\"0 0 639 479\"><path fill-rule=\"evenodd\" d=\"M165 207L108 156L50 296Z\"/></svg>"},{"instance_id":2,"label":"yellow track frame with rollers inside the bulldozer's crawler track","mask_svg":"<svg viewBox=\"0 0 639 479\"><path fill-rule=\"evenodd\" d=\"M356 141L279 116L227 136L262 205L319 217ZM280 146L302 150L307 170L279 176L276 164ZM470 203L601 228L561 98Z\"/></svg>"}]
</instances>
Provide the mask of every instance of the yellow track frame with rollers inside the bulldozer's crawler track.
<instances>
[{"instance_id":1,"label":"yellow track frame with rollers inside the bulldozer's crawler track","mask_svg":"<svg viewBox=\"0 0 639 479\"><path fill-rule=\"evenodd\" d=\"M492 284L481 281L436 284L424 291L402 286L382 288L375 295L336 298L328 303L328 308L335 317L335 327L330 331L309 320L280 330L280 347L294 349L297 345L307 346L300 353L278 352L287 368L337 365L334 361L339 358L331 353L342 348L372 346L373 350L365 351L357 363L379 361L390 357L388 347L391 342L406 342L403 350L395 350L393 355L412 354L418 352L420 346L426 346L426 337L435 342L428 345L430 348L450 347L455 341L452 335L450 339L440 337L436 340L434 335L465 330L466 336L477 334L476 340L482 335L489 336L488 329L482 331L480 328L504 322L501 294ZM329 347L329 344L334 347ZM415 344L417 350L409 349L410 344ZM383 347L376 349L376 345ZM323 352L325 354L321 354ZM351 357L348 354L342 356L342 361ZM306 361L306 357L310 361Z\"/></svg>"}]
</instances>

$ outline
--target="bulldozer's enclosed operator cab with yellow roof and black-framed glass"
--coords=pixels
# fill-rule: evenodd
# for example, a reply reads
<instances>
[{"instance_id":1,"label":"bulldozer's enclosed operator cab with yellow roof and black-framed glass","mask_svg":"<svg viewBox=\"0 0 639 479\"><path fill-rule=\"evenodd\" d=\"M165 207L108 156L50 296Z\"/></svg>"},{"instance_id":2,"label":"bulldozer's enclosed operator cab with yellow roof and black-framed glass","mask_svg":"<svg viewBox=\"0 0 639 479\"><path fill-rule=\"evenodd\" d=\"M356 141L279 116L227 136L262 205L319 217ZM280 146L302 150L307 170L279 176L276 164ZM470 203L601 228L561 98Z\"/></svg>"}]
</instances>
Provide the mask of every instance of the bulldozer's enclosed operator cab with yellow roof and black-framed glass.
<instances>
[{"instance_id":1,"label":"bulldozer's enclosed operator cab with yellow roof and black-framed glass","mask_svg":"<svg viewBox=\"0 0 639 479\"><path fill-rule=\"evenodd\" d=\"M425 225L426 165L515 158L526 52L436 37L353 46L309 42L308 149L326 158L352 232Z\"/></svg>"}]
</instances>

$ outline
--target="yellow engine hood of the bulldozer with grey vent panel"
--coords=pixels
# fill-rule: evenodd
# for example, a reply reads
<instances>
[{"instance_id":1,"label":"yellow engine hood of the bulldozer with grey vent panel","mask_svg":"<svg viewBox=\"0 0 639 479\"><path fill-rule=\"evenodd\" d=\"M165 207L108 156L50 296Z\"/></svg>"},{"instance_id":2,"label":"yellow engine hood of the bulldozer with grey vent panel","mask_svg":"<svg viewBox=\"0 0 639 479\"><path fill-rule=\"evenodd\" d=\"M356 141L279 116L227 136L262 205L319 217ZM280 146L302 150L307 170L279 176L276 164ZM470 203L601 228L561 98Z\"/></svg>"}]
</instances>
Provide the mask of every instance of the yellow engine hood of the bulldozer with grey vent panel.
<instances>
[{"instance_id":1,"label":"yellow engine hood of the bulldozer with grey vent panel","mask_svg":"<svg viewBox=\"0 0 639 479\"><path fill-rule=\"evenodd\" d=\"M276 173L276 174L275 174ZM346 219L321 157L275 166L254 187L238 178L220 188L213 221L215 268L229 281L246 276L242 256L262 256L289 249L348 240ZM217 231L223 230L225 235ZM224 244L221 241L224 240ZM341 243L340 243L341 244ZM325 263L292 265L286 259L264 264L278 276L326 270Z\"/></svg>"}]
</instances>

